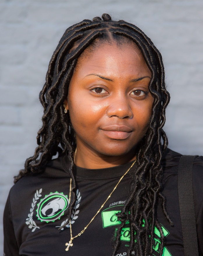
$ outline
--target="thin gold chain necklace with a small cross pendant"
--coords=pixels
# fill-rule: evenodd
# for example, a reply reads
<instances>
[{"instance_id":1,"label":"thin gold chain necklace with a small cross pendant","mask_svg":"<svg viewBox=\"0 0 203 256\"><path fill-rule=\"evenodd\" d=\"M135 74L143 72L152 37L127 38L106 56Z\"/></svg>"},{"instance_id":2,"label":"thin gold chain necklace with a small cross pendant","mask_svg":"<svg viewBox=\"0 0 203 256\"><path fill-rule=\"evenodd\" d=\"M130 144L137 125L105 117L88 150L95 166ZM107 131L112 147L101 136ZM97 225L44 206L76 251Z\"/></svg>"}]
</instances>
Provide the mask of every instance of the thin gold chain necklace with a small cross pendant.
<instances>
[{"instance_id":1,"label":"thin gold chain necklace with a small cross pendant","mask_svg":"<svg viewBox=\"0 0 203 256\"><path fill-rule=\"evenodd\" d=\"M77 148L75 150L75 155L76 155L76 152L77 152ZM75 162L75 156L74 156L74 162ZM130 168L126 171L126 173L123 174L123 176L120 178L119 182L116 184L116 186L114 187L114 189L112 190L112 192L110 193L110 195L107 197L107 199L105 200L105 202L103 203L103 205L99 208L99 210L97 211L97 213L94 215L94 217L90 220L90 222L87 224L86 227L84 227L84 229L82 229L82 231L77 234L77 236L73 236L72 235L72 226L71 226L71 221L69 222L70 223L70 241L69 243L66 243L66 251L69 250L69 247L70 246L73 246L73 239L75 239L76 237L82 235L85 231L85 229L87 229L87 227L89 226L89 224L93 221L93 219L96 217L96 215L100 212L100 210L103 208L103 206L105 205L105 203L107 202L107 200L111 197L112 193L114 192L114 190L116 189L116 187L119 185L119 183L121 182L122 178L128 173L128 171L130 171L130 169L133 167L133 165L135 164L136 160L133 162L133 164L130 166ZM70 195L71 195L71 182L72 182L72 179L70 178L70 192L69 192L69 203L70 203Z\"/></svg>"}]
</instances>

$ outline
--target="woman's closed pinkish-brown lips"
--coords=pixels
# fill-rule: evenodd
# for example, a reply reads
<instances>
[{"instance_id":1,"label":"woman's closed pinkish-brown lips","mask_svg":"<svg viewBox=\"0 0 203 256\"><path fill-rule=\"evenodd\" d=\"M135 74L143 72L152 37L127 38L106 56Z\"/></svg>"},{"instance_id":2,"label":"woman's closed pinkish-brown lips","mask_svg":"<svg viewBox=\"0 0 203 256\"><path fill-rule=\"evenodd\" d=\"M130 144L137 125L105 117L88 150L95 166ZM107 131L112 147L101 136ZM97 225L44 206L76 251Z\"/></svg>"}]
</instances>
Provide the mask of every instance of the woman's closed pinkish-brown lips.
<instances>
[{"instance_id":1,"label":"woman's closed pinkish-brown lips","mask_svg":"<svg viewBox=\"0 0 203 256\"><path fill-rule=\"evenodd\" d=\"M109 125L102 127L101 131L111 139L124 140L131 135L133 130L126 125Z\"/></svg>"}]
</instances>

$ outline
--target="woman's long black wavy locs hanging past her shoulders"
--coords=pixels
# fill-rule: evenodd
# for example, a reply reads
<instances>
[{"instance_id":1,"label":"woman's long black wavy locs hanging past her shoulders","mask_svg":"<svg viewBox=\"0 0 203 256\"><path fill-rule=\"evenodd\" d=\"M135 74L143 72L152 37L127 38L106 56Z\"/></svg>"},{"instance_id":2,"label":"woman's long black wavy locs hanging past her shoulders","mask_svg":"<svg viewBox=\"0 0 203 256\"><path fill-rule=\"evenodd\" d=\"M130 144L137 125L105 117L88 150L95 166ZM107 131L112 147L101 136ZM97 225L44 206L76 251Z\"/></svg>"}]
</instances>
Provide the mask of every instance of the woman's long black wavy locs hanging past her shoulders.
<instances>
[{"instance_id":1,"label":"woman's long black wavy locs hanging past her shoulders","mask_svg":"<svg viewBox=\"0 0 203 256\"><path fill-rule=\"evenodd\" d=\"M134 42L141 50L152 73L149 91L154 97L154 102L149 128L137 152L137 169L130 185L130 196L121 213L117 214L121 224L117 229L116 238L113 239L113 255L119 249L120 234L126 221L130 223L128 255L131 255L132 251L140 256L152 253L155 226L161 236L159 255L162 255L164 234L156 214L158 199L162 202L162 210L166 219L172 225L165 207L166 199L161 193L163 173L161 160L168 145L167 136L162 128L165 124L165 109L170 100L170 95L165 88L162 57L151 39L135 25L123 20L112 21L108 14L103 14L102 18L103 20L100 17L95 17L92 21L83 20L69 27L59 41L50 60L46 81L39 96L44 114L42 127L37 135L38 147L34 155L26 160L24 170L15 176L14 182L16 183L30 172L39 172L53 155L67 151L70 160L69 172L72 178L72 200L67 210L69 222L76 202L76 180L73 174L73 153L76 141L70 117L68 115L67 118L63 108L63 102L68 95L68 86L77 59L86 48L94 45L96 41L119 42L123 40L122 38L128 38L128 41Z\"/></svg>"}]
</instances>

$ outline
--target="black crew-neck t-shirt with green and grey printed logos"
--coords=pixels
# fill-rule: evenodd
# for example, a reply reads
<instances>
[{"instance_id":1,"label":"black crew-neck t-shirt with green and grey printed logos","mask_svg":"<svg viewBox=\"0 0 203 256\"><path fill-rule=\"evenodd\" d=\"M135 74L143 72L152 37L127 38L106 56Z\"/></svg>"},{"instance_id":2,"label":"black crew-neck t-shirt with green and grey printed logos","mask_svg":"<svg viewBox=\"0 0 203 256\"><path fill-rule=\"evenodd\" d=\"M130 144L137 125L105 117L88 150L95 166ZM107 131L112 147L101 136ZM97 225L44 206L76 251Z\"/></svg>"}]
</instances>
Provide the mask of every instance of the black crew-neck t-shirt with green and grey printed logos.
<instances>
[{"instance_id":1,"label":"black crew-neck t-shirt with green and grey printed logos","mask_svg":"<svg viewBox=\"0 0 203 256\"><path fill-rule=\"evenodd\" d=\"M167 211L174 223L171 227L158 203L158 220L162 225L166 244L163 256L183 256L183 239L179 212L177 169L181 155L167 150L163 160L163 194L167 198ZM106 169L84 169L75 166L77 203L71 223L76 236L90 222L109 196L119 178L131 163ZM48 163L42 173L29 174L10 190L4 211L4 253L15 255L112 255L112 237L119 226L116 213L121 210L129 195L129 185L136 163L106 202L100 213L85 232L70 240L70 227L58 230L66 221L69 201L69 162L67 155ZM193 165L193 190L200 256L203 255L203 157L196 157ZM121 245L117 256L127 255L130 233L126 225L121 232ZM155 227L153 255L160 249L160 233ZM133 253L132 253L133 254Z\"/></svg>"}]
</instances>

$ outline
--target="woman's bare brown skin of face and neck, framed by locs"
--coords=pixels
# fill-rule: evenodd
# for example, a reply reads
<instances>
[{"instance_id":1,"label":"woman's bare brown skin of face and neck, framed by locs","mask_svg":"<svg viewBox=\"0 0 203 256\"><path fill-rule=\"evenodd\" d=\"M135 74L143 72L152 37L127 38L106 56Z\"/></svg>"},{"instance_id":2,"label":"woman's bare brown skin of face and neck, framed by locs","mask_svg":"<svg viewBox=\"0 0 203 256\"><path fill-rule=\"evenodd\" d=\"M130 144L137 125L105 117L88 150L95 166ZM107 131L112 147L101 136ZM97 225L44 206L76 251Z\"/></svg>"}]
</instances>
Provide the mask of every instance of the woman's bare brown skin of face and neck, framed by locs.
<instances>
[{"instance_id":1,"label":"woman's bare brown skin of face and neck, framed by locs","mask_svg":"<svg viewBox=\"0 0 203 256\"><path fill-rule=\"evenodd\" d=\"M101 44L79 58L64 102L75 130L75 164L108 168L136 159L153 96L151 71L137 45Z\"/></svg>"}]
</instances>

